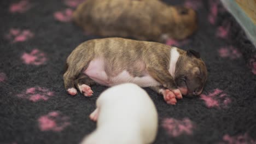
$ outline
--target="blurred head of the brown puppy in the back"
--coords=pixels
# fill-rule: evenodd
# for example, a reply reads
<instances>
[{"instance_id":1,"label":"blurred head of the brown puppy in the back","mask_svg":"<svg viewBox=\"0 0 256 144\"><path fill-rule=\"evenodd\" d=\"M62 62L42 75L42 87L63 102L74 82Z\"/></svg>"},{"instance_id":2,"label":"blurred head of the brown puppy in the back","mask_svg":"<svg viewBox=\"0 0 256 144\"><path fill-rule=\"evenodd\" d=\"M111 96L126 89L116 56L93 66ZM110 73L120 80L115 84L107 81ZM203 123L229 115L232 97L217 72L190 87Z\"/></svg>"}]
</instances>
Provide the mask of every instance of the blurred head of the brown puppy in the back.
<instances>
[{"instance_id":1,"label":"blurred head of the brown puppy in the back","mask_svg":"<svg viewBox=\"0 0 256 144\"><path fill-rule=\"evenodd\" d=\"M173 18L175 29L171 33L174 39L184 39L197 29L196 12L191 8L173 7Z\"/></svg>"}]
</instances>

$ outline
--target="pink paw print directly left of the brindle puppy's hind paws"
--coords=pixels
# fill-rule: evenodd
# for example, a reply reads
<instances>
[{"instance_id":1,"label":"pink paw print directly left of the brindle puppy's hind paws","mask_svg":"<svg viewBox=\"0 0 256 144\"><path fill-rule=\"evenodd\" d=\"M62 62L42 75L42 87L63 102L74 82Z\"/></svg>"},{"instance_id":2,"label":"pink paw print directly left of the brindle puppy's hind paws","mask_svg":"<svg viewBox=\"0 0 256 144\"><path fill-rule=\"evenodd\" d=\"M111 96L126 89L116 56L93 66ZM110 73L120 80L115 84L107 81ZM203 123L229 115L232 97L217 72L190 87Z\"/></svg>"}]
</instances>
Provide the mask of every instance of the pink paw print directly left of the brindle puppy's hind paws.
<instances>
[{"instance_id":1,"label":"pink paw print directly left of the brindle puppy's hind paws","mask_svg":"<svg viewBox=\"0 0 256 144\"><path fill-rule=\"evenodd\" d=\"M40 100L48 100L50 97L53 97L54 92L49 91L49 89L41 88L41 87L31 87L27 88L26 92L22 92L17 96L19 98L28 99L33 102L37 102Z\"/></svg>"}]
</instances>

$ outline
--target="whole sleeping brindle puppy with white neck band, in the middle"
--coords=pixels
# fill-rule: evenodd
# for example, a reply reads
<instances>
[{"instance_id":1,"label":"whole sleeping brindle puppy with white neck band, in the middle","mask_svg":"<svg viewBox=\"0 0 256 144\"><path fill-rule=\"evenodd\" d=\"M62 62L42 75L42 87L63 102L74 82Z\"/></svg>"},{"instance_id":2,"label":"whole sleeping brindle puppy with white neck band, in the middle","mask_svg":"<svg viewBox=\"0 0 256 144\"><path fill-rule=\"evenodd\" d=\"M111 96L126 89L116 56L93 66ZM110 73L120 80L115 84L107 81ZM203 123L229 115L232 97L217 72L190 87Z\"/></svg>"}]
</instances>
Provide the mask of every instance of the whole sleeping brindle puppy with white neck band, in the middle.
<instances>
[{"instance_id":1,"label":"whole sleeping brindle puppy with white neck band, in the middle","mask_svg":"<svg viewBox=\"0 0 256 144\"><path fill-rule=\"evenodd\" d=\"M199 95L206 77L206 65L193 50L148 41L104 38L85 41L72 51L63 80L71 95L79 89L85 96L91 96L89 86L95 82L105 86L132 82L151 87L164 95L168 104L176 104L176 98L181 99L182 94Z\"/></svg>"}]
</instances>

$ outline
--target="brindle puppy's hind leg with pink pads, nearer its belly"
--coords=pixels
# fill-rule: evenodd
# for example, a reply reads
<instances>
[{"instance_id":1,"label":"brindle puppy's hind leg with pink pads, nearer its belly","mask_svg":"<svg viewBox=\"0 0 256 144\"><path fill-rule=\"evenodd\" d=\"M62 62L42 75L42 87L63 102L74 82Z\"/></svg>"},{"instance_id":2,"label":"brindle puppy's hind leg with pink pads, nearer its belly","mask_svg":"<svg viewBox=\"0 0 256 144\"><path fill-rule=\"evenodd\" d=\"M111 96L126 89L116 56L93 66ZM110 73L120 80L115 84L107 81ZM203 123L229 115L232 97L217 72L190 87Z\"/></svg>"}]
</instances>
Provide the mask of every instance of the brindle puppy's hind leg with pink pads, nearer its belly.
<instances>
[{"instance_id":1,"label":"brindle puppy's hind leg with pink pads, nearer its belly","mask_svg":"<svg viewBox=\"0 0 256 144\"><path fill-rule=\"evenodd\" d=\"M90 97L94 93L90 87L90 85L93 85L94 83L95 82L85 74L79 74L78 78L74 80L75 87L77 87L80 93L84 94L86 97Z\"/></svg>"}]
</instances>

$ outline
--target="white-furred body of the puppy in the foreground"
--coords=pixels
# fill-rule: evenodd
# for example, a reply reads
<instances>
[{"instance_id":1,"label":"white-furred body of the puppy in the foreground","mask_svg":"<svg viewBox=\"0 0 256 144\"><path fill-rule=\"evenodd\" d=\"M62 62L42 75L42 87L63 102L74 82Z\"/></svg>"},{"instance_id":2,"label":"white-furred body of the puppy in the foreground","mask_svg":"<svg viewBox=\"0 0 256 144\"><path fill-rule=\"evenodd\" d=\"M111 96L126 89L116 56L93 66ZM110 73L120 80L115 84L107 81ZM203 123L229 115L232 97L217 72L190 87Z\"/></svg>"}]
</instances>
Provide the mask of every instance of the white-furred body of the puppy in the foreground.
<instances>
[{"instance_id":1,"label":"white-furred body of the puppy in the foreground","mask_svg":"<svg viewBox=\"0 0 256 144\"><path fill-rule=\"evenodd\" d=\"M132 83L104 91L96 102L97 128L81 144L152 143L158 130L158 114L148 94Z\"/></svg>"}]
</instances>

